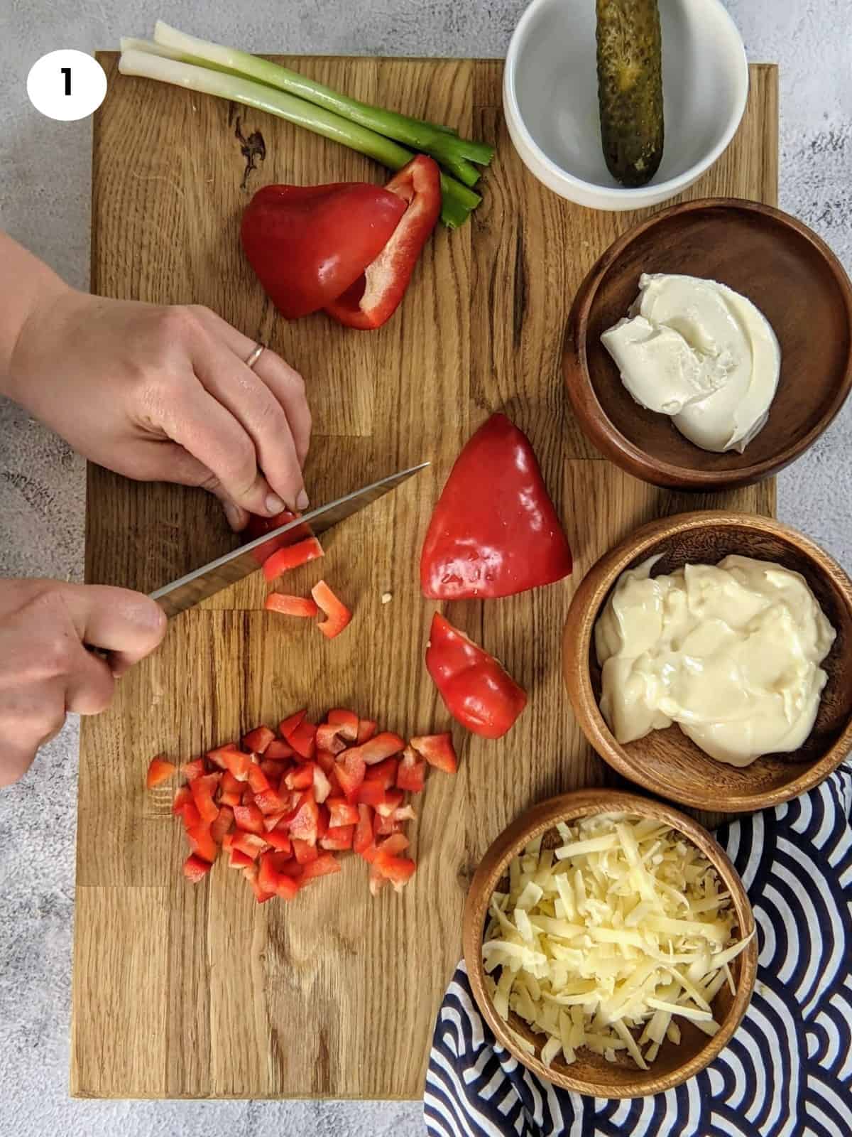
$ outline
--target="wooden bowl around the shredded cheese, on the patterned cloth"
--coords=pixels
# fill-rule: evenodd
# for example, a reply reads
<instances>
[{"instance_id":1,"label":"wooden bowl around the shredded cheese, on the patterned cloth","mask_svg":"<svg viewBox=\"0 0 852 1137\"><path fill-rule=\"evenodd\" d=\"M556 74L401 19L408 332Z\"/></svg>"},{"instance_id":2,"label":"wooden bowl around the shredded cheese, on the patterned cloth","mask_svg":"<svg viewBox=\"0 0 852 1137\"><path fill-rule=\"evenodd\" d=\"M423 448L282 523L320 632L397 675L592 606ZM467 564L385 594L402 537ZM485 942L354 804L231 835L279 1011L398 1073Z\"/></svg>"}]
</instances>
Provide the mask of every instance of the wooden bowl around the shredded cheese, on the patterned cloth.
<instances>
[{"instance_id":1,"label":"wooden bowl around the shredded cheese, on the patterned cloth","mask_svg":"<svg viewBox=\"0 0 852 1137\"><path fill-rule=\"evenodd\" d=\"M758 969L757 937L730 965L736 995L732 995L726 986L722 987L712 1003L713 1015L720 1027L719 1031L709 1038L687 1020L680 1020L678 1022L682 1031L680 1043L676 1046L667 1039L660 1047L650 1070L640 1070L627 1056L619 1056L617 1062L607 1062L602 1056L586 1051L580 1051L577 1061L571 1065L566 1065L559 1059L550 1068L545 1067L540 1059L541 1045L544 1041L543 1036L537 1035L523 1019L511 1012L509 1021L512 1030L531 1041L536 1048L535 1055L527 1054L518 1046L511 1030L494 1010L491 996L485 988L485 969L482 961L482 943L488 903L492 893L506 875L512 857L540 833L545 835L545 843L552 840L554 846L559 844L559 837L554 829L558 821L570 823L591 814L616 812L653 818L684 833L716 868L719 878L730 893L741 935L747 936L752 931L754 916L743 882L721 846L696 821L671 806L652 802L636 794L604 789L579 790L533 806L508 829L503 830L483 857L470 883L465 906L465 963L474 998L495 1038L533 1073L552 1081L562 1089L588 1094L593 1097L644 1097L649 1094L660 1094L666 1089L671 1089L673 1086L679 1086L680 1082L703 1070L727 1045L745 1014L754 987ZM551 831L552 838L546 836ZM621 1054L621 1052L618 1053Z\"/></svg>"}]
</instances>

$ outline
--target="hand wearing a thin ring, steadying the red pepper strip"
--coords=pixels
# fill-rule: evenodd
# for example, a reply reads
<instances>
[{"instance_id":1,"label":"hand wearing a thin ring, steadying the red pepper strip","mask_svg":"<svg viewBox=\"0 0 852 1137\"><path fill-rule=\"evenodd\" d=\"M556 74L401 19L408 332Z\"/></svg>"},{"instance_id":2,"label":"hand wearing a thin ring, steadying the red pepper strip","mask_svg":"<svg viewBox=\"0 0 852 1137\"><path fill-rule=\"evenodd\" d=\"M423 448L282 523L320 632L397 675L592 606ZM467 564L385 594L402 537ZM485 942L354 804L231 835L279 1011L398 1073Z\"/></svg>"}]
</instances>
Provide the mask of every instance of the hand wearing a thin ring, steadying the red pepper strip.
<instances>
[{"instance_id":1,"label":"hand wearing a thin ring, steadying the red pepper strip","mask_svg":"<svg viewBox=\"0 0 852 1137\"><path fill-rule=\"evenodd\" d=\"M7 393L75 450L139 481L201 485L233 529L308 505L304 383L209 308L77 292L53 277L24 322Z\"/></svg>"}]
</instances>

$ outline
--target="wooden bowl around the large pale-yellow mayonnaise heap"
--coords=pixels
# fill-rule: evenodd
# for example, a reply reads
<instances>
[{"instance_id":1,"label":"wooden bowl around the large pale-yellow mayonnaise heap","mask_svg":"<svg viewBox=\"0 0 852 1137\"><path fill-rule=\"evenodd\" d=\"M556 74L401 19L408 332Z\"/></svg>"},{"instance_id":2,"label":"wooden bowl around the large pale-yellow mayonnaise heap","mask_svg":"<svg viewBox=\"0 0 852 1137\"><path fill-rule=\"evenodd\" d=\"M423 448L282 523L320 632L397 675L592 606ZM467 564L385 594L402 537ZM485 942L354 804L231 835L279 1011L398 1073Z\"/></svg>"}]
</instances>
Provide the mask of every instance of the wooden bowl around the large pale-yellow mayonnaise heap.
<instances>
[{"instance_id":1,"label":"wooden bowl around the large pale-yellow mayonnaise heap","mask_svg":"<svg viewBox=\"0 0 852 1137\"><path fill-rule=\"evenodd\" d=\"M616 580L657 554L662 557L651 575L674 572L687 562L717 564L732 553L776 561L801 573L837 632L822 662L828 682L810 737L792 754L763 755L742 769L711 758L677 725L621 745L599 707L601 670L594 652L594 625ZM721 511L663 517L628 537L586 574L568 611L562 667L586 738L632 782L702 810L778 805L817 786L852 748L852 581L813 541L769 517Z\"/></svg>"}]
</instances>

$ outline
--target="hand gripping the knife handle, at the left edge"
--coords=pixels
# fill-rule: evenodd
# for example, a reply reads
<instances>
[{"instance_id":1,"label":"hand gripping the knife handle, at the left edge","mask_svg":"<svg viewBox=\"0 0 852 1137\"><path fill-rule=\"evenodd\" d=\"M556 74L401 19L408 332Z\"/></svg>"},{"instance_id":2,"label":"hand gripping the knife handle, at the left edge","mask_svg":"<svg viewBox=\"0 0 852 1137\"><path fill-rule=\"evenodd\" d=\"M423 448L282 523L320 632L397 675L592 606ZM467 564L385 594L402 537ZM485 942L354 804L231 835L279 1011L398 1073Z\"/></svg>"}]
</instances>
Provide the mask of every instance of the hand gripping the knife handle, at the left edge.
<instances>
[{"instance_id":1,"label":"hand gripping the knife handle, at the left edge","mask_svg":"<svg viewBox=\"0 0 852 1137\"><path fill-rule=\"evenodd\" d=\"M140 592L0 580L0 786L26 772L67 711L106 709L116 678L153 652L165 632L162 608Z\"/></svg>"}]
</instances>

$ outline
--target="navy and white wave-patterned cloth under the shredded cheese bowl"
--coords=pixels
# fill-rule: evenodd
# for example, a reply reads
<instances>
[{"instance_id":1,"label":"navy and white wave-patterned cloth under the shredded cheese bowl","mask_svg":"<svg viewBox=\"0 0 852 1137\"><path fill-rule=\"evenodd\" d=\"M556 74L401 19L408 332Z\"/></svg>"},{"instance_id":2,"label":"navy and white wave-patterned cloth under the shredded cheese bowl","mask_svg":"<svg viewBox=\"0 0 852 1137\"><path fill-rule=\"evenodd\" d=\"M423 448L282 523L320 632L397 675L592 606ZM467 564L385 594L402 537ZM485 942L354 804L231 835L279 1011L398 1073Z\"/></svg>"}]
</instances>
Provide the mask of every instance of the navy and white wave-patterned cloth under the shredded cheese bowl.
<instances>
[{"instance_id":1,"label":"navy and white wave-patterned cloth under the shredded cheese bowl","mask_svg":"<svg viewBox=\"0 0 852 1137\"><path fill-rule=\"evenodd\" d=\"M751 1006L716 1062L630 1101L542 1082L499 1046L463 963L426 1074L431 1137L852 1137L852 766L717 835L754 907Z\"/></svg>"}]
</instances>

